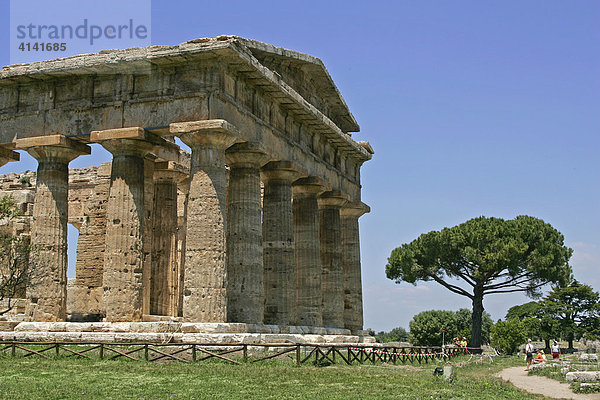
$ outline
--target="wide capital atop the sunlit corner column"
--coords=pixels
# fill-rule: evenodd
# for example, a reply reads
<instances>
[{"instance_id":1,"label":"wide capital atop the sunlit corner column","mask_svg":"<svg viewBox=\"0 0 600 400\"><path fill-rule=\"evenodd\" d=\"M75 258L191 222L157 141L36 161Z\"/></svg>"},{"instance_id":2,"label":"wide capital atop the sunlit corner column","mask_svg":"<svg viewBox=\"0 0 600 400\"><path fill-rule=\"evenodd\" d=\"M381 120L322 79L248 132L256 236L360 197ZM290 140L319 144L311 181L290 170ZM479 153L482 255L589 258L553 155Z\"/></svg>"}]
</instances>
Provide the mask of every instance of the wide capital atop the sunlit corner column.
<instances>
[{"instance_id":1,"label":"wide capital atop the sunlit corner column","mask_svg":"<svg viewBox=\"0 0 600 400\"><path fill-rule=\"evenodd\" d=\"M223 119L176 122L170 125L169 130L191 148L212 147L225 150L240 141L237 128Z\"/></svg>"}]
</instances>

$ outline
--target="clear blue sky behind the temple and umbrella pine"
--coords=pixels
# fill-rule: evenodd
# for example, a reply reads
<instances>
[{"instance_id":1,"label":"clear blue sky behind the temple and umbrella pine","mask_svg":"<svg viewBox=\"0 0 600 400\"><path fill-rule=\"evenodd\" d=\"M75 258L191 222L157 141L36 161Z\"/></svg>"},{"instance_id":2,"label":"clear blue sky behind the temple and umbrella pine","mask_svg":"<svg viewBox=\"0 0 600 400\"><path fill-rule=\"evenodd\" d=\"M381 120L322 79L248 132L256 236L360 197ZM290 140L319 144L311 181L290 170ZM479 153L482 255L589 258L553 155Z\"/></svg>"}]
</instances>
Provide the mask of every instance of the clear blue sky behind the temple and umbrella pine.
<instances>
[{"instance_id":1,"label":"clear blue sky behind the temple and umbrella pine","mask_svg":"<svg viewBox=\"0 0 600 400\"><path fill-rule=\"evenodd\" d=\"M365 326L389 330L470 307L435 284L395 284L385 264L421 233L480 215L551 223L576 278L600 290L599 20L597 1L155 0L151 28L153 44L235 34L323 60L361 126L355 139L375 150L362 169ZM71 166L108 159L93 152ZM35 169L22 158L0 173ZM525 301L484 305L497 319Z\"/></svg>"}]
</instances>

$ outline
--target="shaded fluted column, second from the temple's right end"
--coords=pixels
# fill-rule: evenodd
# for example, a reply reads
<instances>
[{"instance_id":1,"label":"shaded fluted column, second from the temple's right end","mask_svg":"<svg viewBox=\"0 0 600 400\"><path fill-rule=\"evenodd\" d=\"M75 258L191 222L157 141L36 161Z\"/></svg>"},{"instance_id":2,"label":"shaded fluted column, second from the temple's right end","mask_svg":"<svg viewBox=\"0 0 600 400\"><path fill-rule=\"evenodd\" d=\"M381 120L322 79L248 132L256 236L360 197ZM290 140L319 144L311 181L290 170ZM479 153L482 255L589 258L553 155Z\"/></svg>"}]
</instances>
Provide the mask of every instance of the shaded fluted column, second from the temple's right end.
<instances>
[{"instance_id":1,"label":"shaded fluted column, second from the temple's right end","mask_svg":"<svg viewBox=\"0 0 600 400\"><path fill-rule=\"evenodd\" d=\"M340 208L348 197L340 191L325 192L319 197L319 232L321 239L321 287L323 288L323 326L344 327L344 271Z\"/></svg>"}]
</instances>

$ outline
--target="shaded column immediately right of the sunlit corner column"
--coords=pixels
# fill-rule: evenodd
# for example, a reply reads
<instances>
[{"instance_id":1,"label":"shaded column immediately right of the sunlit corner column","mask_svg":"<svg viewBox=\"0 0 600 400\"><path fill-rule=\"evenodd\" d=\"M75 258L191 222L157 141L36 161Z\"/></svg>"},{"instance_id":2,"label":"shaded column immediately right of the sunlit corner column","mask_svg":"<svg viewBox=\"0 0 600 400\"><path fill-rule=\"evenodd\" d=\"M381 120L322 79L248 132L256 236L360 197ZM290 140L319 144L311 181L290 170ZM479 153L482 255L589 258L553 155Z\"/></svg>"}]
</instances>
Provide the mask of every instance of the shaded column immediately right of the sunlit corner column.
<instances>
[{"instance_id":1,"label":"shaded column immediately right of the sunlit corner column","mask_svg":"<svg viewBox=\"0 0 600 400\"><path fill-rule=\"evenodd\" d=\"M225 152L227 191L227 321L262 324L265 290L260 167L268 160L258 143Z\"/></svg>"}]
</instances>

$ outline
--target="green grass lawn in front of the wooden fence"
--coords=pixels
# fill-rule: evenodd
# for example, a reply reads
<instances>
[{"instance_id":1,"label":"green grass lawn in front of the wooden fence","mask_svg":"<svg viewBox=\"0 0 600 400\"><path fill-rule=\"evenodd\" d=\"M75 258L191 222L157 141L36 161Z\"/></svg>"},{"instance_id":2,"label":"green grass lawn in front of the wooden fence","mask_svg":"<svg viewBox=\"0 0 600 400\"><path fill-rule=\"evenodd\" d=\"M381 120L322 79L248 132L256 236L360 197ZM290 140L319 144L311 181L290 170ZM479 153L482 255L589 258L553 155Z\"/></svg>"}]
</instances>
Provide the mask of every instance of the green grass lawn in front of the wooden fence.
<instances>
[{"instance_id":1,"label":"green grass lawn in front of the wooden fence","mask_svg":"<svg viewBox=\"0 0 600 400\"><path fill-rule=\"evenodd\" d=\"M453 361L452 382L427 366L330 365L291 361L133 361L0 357L1 399L539 399L494 375L519 358ZM441 365L441 364L437 364Z\"/></svg>"}]
</instances>

